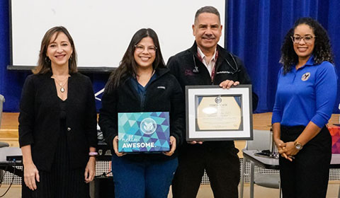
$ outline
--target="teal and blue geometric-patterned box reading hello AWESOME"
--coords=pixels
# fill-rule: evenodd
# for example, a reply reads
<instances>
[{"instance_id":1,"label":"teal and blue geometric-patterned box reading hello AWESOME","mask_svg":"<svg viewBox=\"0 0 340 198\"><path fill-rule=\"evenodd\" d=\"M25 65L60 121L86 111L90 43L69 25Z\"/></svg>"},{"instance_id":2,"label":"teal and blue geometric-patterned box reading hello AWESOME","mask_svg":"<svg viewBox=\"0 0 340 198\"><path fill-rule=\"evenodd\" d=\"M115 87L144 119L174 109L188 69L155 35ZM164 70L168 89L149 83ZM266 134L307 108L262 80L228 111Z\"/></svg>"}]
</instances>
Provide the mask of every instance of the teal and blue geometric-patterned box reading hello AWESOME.
<instances>
[{"instance_id":1,"label":"teal and blue geometric-patterned box reading hello AWESOME","mask_svg":"<svg viewBox=\"0 0 340 198\"><path fill-rule=\"evenodd\" d=\"M118 151L169 151L169 112L118 113Z\"/></svg>"}]
</instances>

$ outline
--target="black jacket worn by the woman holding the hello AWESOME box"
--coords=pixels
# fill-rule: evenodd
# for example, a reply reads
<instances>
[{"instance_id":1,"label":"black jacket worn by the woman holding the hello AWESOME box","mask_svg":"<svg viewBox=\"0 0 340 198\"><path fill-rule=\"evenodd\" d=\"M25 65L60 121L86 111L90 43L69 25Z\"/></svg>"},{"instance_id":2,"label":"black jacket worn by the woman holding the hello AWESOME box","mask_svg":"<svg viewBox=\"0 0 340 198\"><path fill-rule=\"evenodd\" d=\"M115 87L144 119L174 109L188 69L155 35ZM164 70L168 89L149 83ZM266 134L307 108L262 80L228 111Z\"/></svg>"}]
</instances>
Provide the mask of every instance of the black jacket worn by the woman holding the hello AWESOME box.
<instances>
[{"instance_id":1,"label":"black jacket worn by the woman holding the hello AWESOME box","mask_svg":"<svg viewBox=\"0 0 340 198\"><path fill-rule=\"evenodd\" d=\"M104 91L99 125L111 148L113 148L114 137L118 135L118 112L169 112L170 136L176 138L177 146L181 144L185 116L181 86L176 78L169 73L169 69L157 69L156 74L157 78L147 86L144 107L140 105L140 96L129 78L121 83L118 88L113 88L112 91ZM141 158L141 156L145 157L143 154L123 157ZM169 158L163 154L147 154L147 156Z\"/></svg>"}]
</instances>

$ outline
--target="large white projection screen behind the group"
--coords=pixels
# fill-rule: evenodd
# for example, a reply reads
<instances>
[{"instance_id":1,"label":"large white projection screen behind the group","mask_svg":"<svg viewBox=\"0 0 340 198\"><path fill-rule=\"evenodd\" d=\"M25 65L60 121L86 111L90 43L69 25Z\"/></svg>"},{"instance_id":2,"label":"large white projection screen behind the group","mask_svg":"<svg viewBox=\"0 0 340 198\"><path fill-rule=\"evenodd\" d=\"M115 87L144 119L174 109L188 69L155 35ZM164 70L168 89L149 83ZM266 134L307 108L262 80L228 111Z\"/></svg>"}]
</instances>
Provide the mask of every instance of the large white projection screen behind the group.
<instances>
[{"instance_id":1,"label":"large white projection screen behind the group","mask_svg":"<svg viewBox=\"0 0 340 198\"><path fill-rule=\"evenodd\" d=\"M72 35L78 66L118 66L132 35L152 28L164 61L193 45L198 8L215 6L225 24L225 0L12 0L12 65L35 66L45 32L63 25ZM224 46L224 28L220 45Z\"/></svg>"}]
</instances>

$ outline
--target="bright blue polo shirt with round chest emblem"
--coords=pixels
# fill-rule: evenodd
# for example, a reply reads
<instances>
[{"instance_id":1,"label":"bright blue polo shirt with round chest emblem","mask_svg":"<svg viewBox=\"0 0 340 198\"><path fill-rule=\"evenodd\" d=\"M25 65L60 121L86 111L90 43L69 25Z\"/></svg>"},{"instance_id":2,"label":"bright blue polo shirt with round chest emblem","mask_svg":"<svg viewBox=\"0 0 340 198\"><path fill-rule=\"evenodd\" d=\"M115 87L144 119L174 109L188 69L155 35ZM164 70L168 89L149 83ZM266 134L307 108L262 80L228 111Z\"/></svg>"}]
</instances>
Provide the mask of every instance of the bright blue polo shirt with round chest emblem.
<instances>
[{"instance_id":1,"label":"bright blue polo shirt with round chest emblem","mask_svg":"<svg viewBox=\"0 0 340 198\"><path fill-rule=\"evenodd\" d=\"M324 127L335 104L336 80L334 65L314 64L313 57L297 70L294 66L287 74L280 69L271 123L307 126L312 121Z\"/></svg>"}]
</instances>

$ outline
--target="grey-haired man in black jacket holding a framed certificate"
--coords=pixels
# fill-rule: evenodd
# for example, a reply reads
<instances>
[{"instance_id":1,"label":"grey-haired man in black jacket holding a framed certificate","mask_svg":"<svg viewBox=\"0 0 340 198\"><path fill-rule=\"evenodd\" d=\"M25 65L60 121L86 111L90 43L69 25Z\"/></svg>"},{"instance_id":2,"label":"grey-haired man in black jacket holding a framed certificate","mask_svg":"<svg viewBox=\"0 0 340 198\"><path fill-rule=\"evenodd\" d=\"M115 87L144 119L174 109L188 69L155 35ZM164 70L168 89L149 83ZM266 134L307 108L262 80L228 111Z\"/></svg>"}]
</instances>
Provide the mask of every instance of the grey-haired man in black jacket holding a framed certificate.
<instances>
[{"instance_id":1,"label":"grey-haired man in black jacket holding a framed certificate","mask_svg":"<svg viewBox=\"0 0 340 198\"><path fill-rule=\"evenodd\" d=\"M193 47L170 57L167 64L183 91L185 86L192 85L230 88L251 83L242 61L217 45L222 25L216 8L205 6L196 12L193 35L196 38ZM258 98L255 93L252 97L255 110ZM191 141L183 144L172 184L174 197L196 197L206 170L214 197L237 198L238 152L234 141Z\"/></svg>"}]
</instances>

